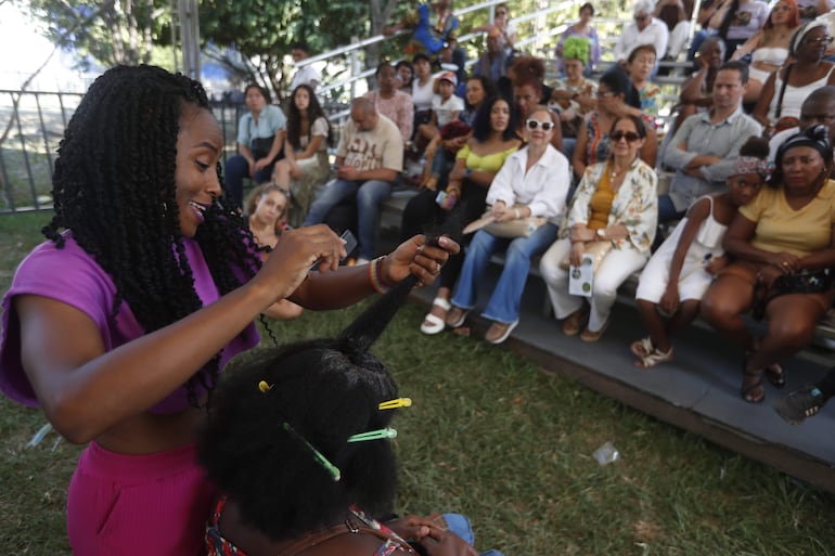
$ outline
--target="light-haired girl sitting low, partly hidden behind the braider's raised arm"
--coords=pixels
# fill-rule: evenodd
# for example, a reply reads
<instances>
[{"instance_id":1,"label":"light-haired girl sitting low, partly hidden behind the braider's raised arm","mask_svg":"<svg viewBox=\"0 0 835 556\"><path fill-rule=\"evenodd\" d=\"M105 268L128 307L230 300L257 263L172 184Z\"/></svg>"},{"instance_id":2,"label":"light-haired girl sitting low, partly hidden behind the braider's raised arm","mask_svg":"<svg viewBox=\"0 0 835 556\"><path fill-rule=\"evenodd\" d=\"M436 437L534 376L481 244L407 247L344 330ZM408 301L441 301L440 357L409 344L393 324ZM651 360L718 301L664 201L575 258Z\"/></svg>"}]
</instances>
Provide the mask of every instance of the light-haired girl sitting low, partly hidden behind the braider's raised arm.
<instances>
[{"instance_id":1,"label":"light-haired girl sitting low, partly hidden behind the braider's raised arm","mask_svg":"<svg viewBox=\"0 0 835 556\"><path fill-rule=\"evenodd\" d=\"M258 185L248 195L244 215L253 238L262 249L262 260L267 260L270 251L279 244L281 232L288 228L286 220L288 208L287 194L274 183ZM288 299L280 299L268 307L264 314L288 321L301 314L301 306Z\"/></svg>"}]
</instances>

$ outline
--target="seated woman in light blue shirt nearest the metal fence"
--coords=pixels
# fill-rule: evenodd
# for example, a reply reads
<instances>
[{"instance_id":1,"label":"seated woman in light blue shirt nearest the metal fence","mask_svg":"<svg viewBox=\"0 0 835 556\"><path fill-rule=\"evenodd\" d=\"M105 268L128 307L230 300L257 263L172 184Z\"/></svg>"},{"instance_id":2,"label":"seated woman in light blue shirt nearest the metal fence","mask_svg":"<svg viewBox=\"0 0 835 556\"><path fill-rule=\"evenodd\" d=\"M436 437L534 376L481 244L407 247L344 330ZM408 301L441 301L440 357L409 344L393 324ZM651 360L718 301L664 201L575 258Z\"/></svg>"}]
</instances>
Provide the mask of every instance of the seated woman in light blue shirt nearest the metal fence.
<instances>
[{"instance_id":1,"label":"seated woman in light blue shirt nearest the metal fence","mask_svg":"<svg viewBox=\"0 0 835 556\"><path fill-rule=\"evenodd\" d=\"M270 180L275 159L284 145L287 118L270 104L270 91L255 83L244 90L249 112L237 124L237 154L227 159L226 195L229 208L243 208L244 178L256 184Z\"/></svg>"}]
</instances>

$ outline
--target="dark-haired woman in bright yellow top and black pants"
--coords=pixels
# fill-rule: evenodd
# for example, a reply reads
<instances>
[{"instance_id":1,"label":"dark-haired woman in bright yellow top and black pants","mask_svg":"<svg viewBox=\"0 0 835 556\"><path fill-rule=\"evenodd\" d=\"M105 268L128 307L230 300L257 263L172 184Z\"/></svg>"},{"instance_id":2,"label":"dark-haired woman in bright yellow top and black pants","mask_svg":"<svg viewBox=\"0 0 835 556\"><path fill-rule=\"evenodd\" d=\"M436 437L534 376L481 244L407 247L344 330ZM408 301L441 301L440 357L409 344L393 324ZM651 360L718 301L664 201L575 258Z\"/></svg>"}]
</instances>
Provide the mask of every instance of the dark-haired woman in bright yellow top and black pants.
<instances>
[{"instance_id":1,"label":"dark-haired woman in bright yellow top and black pants","mask_svg":"<svg viewBox=\"0 0 835 556\"><path fill-rule=\"evenodd\" d=\"M401 234L411 237L413 230L431 231L442 225L450 217L459 218L463 228L480 217L485 209L487 190L496 173L505 158L522 144L515 130L516 113L508 101L493 96L481 103L473 121L473 137L455 156L447 190L440 194L423 190L412 197L403 210ZM452 211L459 204L463 206ZM463 257L453 257L441 271L440 288L432 310L421 324L424 334L444 331L445 318L450 309L449 298L462 263Z\"/></svg>"}]
</instances>

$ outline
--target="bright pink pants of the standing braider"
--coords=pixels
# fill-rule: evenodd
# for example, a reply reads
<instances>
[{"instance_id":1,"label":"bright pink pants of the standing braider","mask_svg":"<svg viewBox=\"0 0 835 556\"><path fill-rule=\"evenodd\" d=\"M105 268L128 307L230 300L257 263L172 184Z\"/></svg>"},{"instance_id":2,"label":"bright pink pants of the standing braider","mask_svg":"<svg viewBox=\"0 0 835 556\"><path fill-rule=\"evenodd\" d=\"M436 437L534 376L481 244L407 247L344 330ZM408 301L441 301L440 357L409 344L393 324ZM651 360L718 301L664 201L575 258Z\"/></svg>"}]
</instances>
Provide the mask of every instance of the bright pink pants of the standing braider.
<instances>
[{"instance_id":1,"label":"bright pink pants of the standing braider","mask_svg":"<svg viewBox=\"0 0 835 556\"><path fill-rule=\"evenodd\" d=\"M215 489L194 445L146 455L81 454L67 494L75 556L198 556Z\"/></svg>"}]
</instances>

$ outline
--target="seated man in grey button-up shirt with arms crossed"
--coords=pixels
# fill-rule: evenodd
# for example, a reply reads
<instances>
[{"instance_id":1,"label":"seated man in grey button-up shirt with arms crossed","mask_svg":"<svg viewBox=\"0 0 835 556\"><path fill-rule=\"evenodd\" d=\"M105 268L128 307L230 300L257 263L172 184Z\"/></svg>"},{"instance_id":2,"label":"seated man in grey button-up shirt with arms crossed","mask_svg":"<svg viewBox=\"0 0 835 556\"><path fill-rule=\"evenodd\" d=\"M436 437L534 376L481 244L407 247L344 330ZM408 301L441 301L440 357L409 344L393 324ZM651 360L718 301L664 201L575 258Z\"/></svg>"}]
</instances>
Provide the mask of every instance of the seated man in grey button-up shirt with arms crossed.
<instances>
[{"instance_id":1,"label":"seated man in grey button-up shirt with arms crossed","mask_svg":"<svg viewBox=\"0 0 835 556\"><path fill-rule=\"evenodd\" d=\"M676 131L664 164L678 169L669 194L658 197L658 222L677 220L697 198L724 191L740 147L762 131L742 111L747 80L747 64L725 62L714 83L714 106L689 117Z\"/></svg>"}]
</instances>

